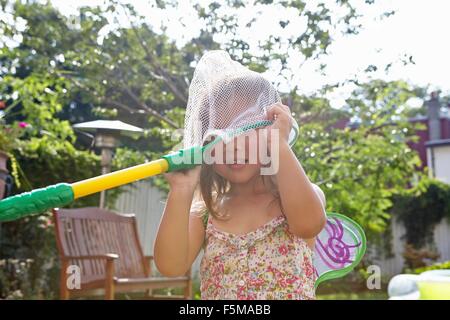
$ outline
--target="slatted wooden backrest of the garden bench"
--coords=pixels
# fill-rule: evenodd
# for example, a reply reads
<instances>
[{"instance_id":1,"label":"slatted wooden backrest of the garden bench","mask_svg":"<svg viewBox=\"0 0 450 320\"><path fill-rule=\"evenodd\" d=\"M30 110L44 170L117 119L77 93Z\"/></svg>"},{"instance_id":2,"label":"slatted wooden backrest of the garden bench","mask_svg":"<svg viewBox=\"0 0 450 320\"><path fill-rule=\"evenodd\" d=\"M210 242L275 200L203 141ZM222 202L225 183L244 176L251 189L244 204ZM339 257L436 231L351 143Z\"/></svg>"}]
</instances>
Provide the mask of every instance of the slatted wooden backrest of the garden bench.
<instances>
[{"instance_id":1,"label":"slatted wooden backrest of the garden bench","mask_svg":"<svg viewBox=\"0 0 450 320\"><path fill-rule=\"evenodd\" d=\"M133 214L118 214L90 207L53 210L60 255L93 256L115 253L115 276L140 278L148 275ZM77 260L82 282L104 279L105 261Z\"/></svg>"}]
</instances>

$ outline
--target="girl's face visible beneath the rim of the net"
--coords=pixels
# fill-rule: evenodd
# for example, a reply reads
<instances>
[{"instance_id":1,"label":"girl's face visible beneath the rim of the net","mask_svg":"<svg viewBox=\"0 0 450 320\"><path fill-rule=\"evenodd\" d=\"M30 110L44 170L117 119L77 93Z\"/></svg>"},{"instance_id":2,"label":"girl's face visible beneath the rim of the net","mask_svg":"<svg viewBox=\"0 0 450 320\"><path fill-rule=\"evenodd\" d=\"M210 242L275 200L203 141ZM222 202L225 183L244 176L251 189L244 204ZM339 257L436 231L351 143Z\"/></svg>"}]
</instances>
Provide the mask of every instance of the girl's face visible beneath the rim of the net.
<instances>
[{"instance_id":1,"label":"girl's face visible beneath the rim of the net","mask_svg":"<svg viewBox=\"0 0 450 320\"><path fill-rule=\"evenodd\" d=\"M260 174L262 147L258 130L217 145L211 153L215 159L213 169L230 183L246 183Z\"/></svg>"}]
</instances>

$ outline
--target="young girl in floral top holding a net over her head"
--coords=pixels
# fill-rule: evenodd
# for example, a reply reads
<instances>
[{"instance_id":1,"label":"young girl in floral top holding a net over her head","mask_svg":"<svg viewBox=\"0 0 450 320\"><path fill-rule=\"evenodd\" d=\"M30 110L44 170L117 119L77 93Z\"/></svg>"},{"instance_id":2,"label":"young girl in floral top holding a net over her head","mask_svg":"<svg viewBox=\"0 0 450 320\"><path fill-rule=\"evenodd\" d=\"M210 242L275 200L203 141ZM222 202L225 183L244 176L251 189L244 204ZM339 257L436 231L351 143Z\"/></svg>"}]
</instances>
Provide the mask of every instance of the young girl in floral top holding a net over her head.
<instances>
[{"instance_id":1,"label":"young girl in floral top holding a net over her head","mask_svg":"<svg viewBox=\"0 0 450 320\"><path fill-rule=\"evenodd\" d=\"M266 144L278 145L275 174L261 174L259 157L249 163L255 140L236 138L234 152L225 148L231 162L166 174L170 192L155 263L163 275L180 276L203 248L202 299L315 298L312 250L326 222L325 196L289 146L289 108L273 104L267 119L273 120L269 129L278 131L267 135ZM199 199L193 200L198 187Z\"/></svg>"}]
</instances>

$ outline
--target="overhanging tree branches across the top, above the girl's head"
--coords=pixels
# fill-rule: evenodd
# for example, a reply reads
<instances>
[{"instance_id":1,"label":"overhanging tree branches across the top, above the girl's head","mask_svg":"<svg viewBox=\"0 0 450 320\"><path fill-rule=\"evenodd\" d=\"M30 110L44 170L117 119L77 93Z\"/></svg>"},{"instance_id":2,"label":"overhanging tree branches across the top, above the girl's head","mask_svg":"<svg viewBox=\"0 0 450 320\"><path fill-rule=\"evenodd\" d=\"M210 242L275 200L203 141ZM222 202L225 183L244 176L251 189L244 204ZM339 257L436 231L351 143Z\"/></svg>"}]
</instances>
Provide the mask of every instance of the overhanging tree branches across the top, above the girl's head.
<instances>
[{"instance_id":1,"label":"overhanging tree branches across the top, above the girl's head","mask_svg":"<svg viewBox=\"0 0 450 320\"><path fill-rule=\"evenodd\" d=\"M17 22L3 20L3 34L21 38L19 48L27 49L3 47L6 68L19 74L45 71L43 75L69 80L72 87L67 90L79 91L82 101L99 110L146 114L172 128L177 124L165 112L186 105L191 65L205 50L223 48L257 71L279 64L280 74L285 74L289 71L287 49L303 61L317 58L326 53L332 29L356 33L361 28L350 1L317 6L306 1L199 1L194 3L194 12L203 22L199 35L179 48L165 35L167 26L157 33L133 5L122 1L82 7L72 16L61 15L50 3L4 0L2 4L10 20ZM151 5L163 15L165 8L181 3L158 1ZM243 19L242 11L249 6L254 8L253 16ZM279 27L273 34L256 47L240 38L243 29L257 31L274 7L285 14L276 18ZM338 14L332 15L332 9ZM124 18L129 27L117 23ZM302 30L296 28L299 23ZM19 28L21 24L25 26ZM260 54L252 53L256 51Z\"/></svg>"}]
</instances>

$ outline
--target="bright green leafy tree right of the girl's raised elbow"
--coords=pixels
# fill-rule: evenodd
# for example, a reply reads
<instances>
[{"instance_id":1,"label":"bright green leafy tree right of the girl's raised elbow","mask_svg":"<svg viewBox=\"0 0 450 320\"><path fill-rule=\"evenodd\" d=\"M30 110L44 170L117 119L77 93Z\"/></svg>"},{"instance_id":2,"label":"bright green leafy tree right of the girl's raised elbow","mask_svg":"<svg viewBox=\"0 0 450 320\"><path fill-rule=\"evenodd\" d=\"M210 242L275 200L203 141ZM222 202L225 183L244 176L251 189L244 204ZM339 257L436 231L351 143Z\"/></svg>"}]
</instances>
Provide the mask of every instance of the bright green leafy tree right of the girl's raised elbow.
<instances>
[{"instance_id":1,"label":"bright green leafy tree right of the girl's raised elbow","mask_svg":"<svg viewBox=\"0 0 450 320\"><path fill-rule=\"evenodd\" d=\"M419 126L402 113L412 96L404 82L374 80L352 93L346 110L333 110L319 97L294 101L296 155L325 192L327 209L354 218L369 234L385 229L392 195L419 174L420 159L407 145Z\"/></svg>"}]
</instances>

